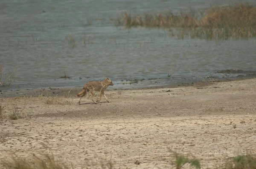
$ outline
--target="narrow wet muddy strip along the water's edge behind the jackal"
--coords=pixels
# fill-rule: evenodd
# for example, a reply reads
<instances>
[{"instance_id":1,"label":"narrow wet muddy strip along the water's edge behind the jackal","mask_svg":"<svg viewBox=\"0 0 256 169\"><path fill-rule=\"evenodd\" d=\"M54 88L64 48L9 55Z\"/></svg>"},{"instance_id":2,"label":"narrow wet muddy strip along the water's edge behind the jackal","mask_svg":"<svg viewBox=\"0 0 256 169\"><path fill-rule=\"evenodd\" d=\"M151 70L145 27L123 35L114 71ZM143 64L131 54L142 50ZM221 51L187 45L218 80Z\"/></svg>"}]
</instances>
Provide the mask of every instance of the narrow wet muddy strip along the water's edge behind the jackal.
<instances>
[{"instance_id":1,"label":"narrow wet muddy strip along the water's edge behind the jackal","mask_svg":"<svg viewBox=\"0 0 256 169\"><path fill-rule=\"evenodd\" d=\"M216 74L218 73L218 74ZM213 74L212 74L213 75ZM114 86L108 87L107 90L136 90L136 89L149 89L149 88L162 88L162 87L178 87L178 86L193 86L194 84L199 83L207 83L207 82L226 82L226 81L233 81L233 80L244 80L244 79L252 79L256 78L256 71L255 70L240 70L240 69L224 69L224 70L218 70L215 72L215 76L199 76L198 74L191 76L172 76L168 74L167 77L160 77L160 78L148 78L148 79L122 79L122 80L116 80L113 81ZM79 82L80 86L78 85L70 85L73 84L71 77L60 77L58 80L64 80L58 82L58 84L62 84L59 86L52 86L49 85L48 87L17 87L14 84L11 86L0 86L0 96L3 96L3 92L10 92L10 91L23 91L23 93L26 93L24 90L46 90L46 89L67 89L70 90L71 88L79 88L82 87L84 84L86 84L89 81L99 81L99 80L89 80L85 82ZM104 78L103 78L104 79ZM54 79L56 80L56 79ZM81 85L82 84L82 85ZM66 86L64 86L66 85ZM12 96L18 96L15 95L14 92ZM16 92L18 94L19 92ZM31 93L31 92L29 92Z\"/></svg>"}]
</instances>

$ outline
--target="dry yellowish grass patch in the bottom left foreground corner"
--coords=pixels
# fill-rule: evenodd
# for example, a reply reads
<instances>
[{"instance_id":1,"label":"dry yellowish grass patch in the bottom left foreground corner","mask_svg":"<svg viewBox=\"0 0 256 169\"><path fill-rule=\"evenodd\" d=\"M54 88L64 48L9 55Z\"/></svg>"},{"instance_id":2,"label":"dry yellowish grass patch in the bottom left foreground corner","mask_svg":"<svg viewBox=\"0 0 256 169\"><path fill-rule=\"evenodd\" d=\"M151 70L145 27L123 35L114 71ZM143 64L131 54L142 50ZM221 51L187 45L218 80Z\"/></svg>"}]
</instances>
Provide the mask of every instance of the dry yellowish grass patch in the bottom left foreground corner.
<instances>
[{"instance_id":1,"label":"dry yellowish grass patch in the bottom left foreground corner","mask_svg":"<svg viewBox=\"0 0 256 169\"><path fill-rule=\"evenodd\" d=\"M35 154L33 163L29 163L23 158L12 157L11 160L4 160L1 165L4 169L68 169L67 166L57 163L53 155L44 155L44 159Z\"/></svg>"}]
</instances>

